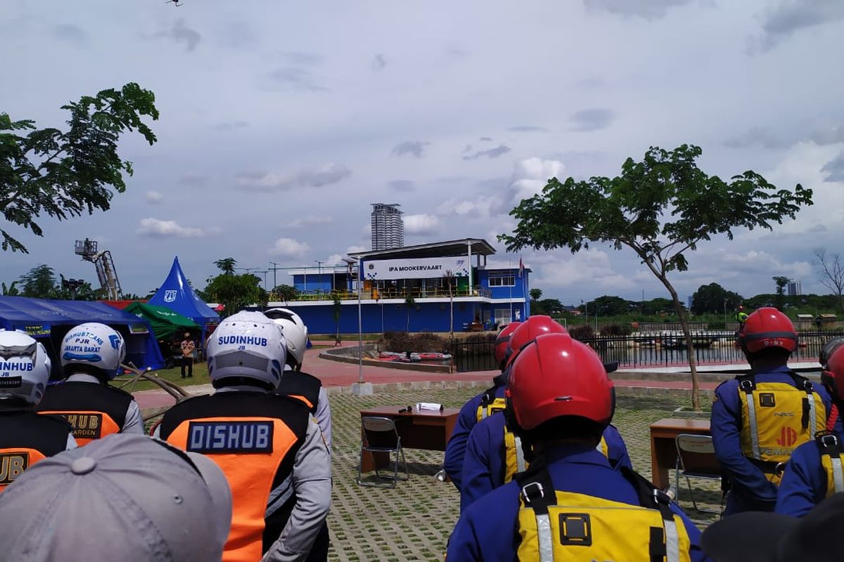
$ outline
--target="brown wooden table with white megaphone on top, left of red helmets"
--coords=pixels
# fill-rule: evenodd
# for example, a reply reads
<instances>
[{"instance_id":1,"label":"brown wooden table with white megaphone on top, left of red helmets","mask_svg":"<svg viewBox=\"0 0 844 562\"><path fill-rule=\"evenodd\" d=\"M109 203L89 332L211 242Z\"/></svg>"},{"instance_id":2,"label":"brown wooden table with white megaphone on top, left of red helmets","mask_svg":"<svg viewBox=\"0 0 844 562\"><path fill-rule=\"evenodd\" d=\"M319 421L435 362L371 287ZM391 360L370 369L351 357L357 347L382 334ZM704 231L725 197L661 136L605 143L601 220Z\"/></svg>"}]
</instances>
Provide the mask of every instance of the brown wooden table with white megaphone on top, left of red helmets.
<instances>
[{"instance_id":1,"label":"brown wooden table with white megaphone on top, left of red helmets","mask_svg":"<svg viewBox=\"0 0 844 562\"><path fill-rule=\"evenodd\" d=\"M396 431L402 438L402 447L409 449L428 449L429 451L445 451L448 438L452 436L454 424L457 423L457 408L446 408L442 411L411 409L409 412L399 413L398 410L407 406L376 406L371 409L360 410L360 417L380 415L396 422ZM360 426L360 436L363 438L363 424ZM360 461L361 472L374 470L389 463L388 453L365 451Z\"/></svg>"}]
</instances>

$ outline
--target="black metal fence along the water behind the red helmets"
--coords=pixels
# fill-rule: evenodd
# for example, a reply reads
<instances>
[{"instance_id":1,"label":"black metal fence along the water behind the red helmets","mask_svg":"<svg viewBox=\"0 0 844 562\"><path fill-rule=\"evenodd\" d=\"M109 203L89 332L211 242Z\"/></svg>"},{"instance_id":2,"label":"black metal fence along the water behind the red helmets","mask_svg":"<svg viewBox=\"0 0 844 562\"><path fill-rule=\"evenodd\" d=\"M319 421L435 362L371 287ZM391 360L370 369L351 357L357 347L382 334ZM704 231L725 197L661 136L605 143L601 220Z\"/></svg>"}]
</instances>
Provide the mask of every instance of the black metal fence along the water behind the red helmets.
<instances>
[{"instance_id":1,"label":"black metal fence along the water behind the red helmets","mask_svg":"<svg viewBox=\"0 0 844 562\"><path fill-rule=\"evenodd\" d=\"M844 337L841 330L801 332L792 361L818 361L820 350L827 341ZM695 360L698 365L728 365L744 363L744 352L736 336L729 332L695 331ZM591 345L605 363L618 362L619 367L672 367L688 364L688 353L682 334L636 334L596 336L583 340ZM452 356L457 371L495 370L495 344L455 340Z\"/></svg>"}]
</instances>

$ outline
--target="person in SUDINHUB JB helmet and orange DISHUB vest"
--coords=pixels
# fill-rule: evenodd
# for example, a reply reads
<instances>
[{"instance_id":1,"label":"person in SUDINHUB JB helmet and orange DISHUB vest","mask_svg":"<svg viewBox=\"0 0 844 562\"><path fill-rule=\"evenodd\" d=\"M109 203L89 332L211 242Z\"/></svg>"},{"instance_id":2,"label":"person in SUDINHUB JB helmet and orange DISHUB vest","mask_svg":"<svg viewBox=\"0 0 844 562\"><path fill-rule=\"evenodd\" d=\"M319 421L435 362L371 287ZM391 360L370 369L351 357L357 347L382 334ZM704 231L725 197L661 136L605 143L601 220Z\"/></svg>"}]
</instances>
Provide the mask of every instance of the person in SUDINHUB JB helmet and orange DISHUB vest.
<instances>
[{"instance_id":1,"label":"person in SUDINHUB JB helmet and orange DISHUB vest","mask_svg":"<svg viewBox=\"0 0 844 562\"><path fill-rule=\"evenodd\" d=\"M306 404L275 393L281 329L262 313L236 313L206 349L216 391L176 404L156 433L225 473L234 506L225 562L305 560L331 504L331 458Z\"/></svg>"}]
</instances>

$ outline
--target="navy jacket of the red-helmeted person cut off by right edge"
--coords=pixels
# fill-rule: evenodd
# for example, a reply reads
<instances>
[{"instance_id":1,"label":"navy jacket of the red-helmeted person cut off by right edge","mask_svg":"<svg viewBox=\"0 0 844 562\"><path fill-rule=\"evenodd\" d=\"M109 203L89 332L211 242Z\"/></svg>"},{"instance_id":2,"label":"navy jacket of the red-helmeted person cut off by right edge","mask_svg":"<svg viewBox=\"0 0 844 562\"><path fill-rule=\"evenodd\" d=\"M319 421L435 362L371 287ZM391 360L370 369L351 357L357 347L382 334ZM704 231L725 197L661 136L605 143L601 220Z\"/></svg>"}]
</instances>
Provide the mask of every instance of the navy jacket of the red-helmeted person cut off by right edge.
<instances>
[{"instance_id":1,"label":"navy jacket of the red-helmeted person cut off by right edge","mask_svg":"<svg viewBox=\"0 0 844 562\"><path fill-rule=\"evenodd\" d=\"M844 435L838 432L838 440ZM820 447L815 441L794 449L782 474L780 493L774 511L792 517L803 517L826 498L826 471L820 463Z\"/></svg>"}]
</instances>

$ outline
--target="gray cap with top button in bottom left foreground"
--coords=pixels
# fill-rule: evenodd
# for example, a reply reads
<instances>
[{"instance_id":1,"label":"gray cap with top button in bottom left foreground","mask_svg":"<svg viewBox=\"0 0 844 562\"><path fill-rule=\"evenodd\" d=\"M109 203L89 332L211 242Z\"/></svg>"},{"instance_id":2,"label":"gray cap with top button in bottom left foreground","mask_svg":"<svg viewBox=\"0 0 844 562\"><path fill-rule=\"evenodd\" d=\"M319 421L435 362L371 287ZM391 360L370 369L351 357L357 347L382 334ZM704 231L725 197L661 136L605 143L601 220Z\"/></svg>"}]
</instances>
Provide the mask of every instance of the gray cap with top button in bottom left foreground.
<instances>
[{"instance_id":1,"label":"gray cap with top button in bottom left foreground","mask_svg":"<svg viewBox=\"0 0 844 562\"><path fill-rule=\"evenodd\" d=\"M0 521L8 560L219 560L231 492L203 455L114 434L34 464L0 495Z\"/></svg>"}]
</instances>

